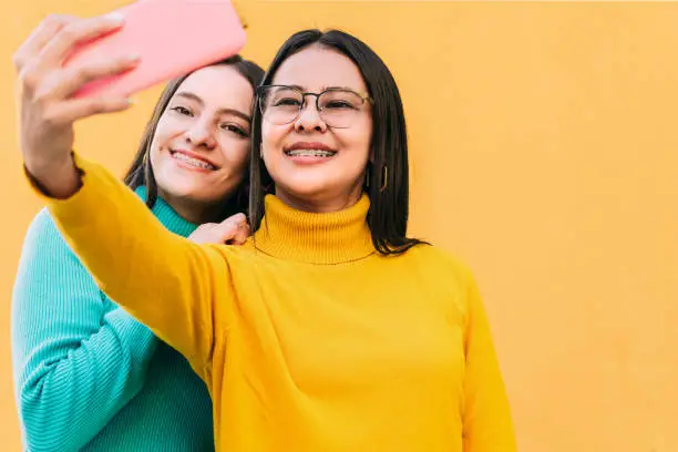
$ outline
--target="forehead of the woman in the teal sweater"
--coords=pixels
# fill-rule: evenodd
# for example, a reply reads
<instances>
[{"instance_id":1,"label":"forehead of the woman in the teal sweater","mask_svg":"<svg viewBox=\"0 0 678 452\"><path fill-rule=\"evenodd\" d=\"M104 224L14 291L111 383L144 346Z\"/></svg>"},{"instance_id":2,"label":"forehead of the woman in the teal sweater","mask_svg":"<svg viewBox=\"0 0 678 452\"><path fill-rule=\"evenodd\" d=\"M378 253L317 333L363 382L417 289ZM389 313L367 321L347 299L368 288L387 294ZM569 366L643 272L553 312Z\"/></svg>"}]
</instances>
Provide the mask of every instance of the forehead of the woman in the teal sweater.
<instances>
[{"instance_id":1,"label":"forehead of the woman in the teal sweater","mask_svg":"<svg viewBox=\"0 0 678 452\"><path fill-rule=\"evenodd\" d=\"M254 96L249 82L230 65L198 69L182 82L177 93L189 92L206 105L248 111Z\"/></svg>"}]
</instances>

